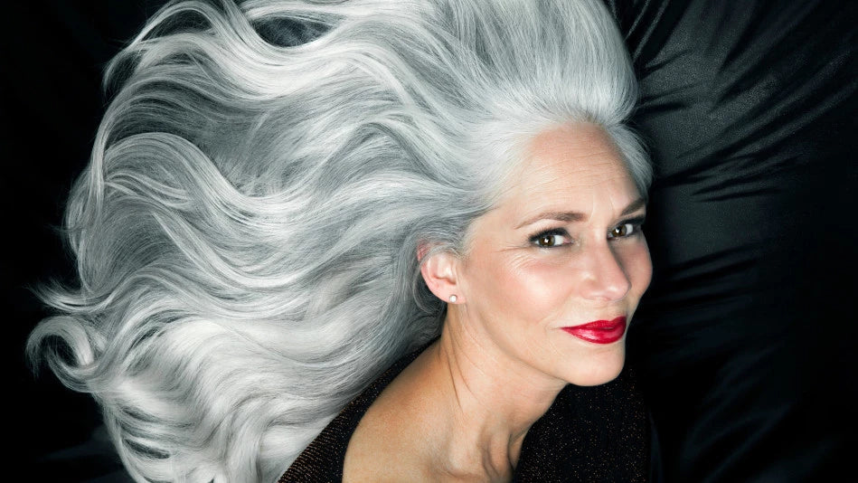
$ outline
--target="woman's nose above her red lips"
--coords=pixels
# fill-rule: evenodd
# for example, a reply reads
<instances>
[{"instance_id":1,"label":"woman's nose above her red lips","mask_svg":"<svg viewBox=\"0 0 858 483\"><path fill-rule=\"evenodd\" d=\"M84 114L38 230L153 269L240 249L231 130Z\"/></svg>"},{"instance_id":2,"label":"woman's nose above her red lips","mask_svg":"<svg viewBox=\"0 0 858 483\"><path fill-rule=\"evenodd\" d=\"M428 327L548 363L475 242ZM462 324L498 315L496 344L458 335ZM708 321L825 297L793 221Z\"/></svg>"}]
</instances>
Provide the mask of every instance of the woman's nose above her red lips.
<instances>
[{"instance_id":1,"label":"woman's nose above her red lips","mask_svg":"<svg viewBox=\"0 0 858 483\"><path fill-rule=\"evenodd\" d=\"M631 288L621 260L609 242L591 247L581 279L582 297L599 302L612 302L626 297Z\"/></svg>"}]
</instances>

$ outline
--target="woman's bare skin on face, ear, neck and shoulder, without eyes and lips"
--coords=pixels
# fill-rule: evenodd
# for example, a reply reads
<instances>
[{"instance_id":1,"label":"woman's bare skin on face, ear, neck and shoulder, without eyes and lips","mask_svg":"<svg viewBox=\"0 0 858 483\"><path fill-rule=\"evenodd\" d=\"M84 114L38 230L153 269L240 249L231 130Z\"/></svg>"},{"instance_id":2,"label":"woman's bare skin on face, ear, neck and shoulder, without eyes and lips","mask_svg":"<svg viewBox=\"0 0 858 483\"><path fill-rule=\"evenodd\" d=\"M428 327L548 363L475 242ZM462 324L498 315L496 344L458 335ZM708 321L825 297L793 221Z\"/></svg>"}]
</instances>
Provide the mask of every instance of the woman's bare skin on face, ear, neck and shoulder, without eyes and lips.
<instances>
[{"instance_id":1,"label":"woman's bare skin on face, ear, neck and shoulder, without eyes and lips","mask_svg":"<svg viewBox=\"0 0 858 483\"><path fill-rule=\"evenodd\" d=\"M621 315L633 323L652 277L646 238L608 232L645 213L622 214L641 196L597 126L548 129L525 152L514 184L469 227L466 253L435 253L421 265L429 289L457 303L438 341L364 415L346 481L508 481L524 436L565 384L605 384L622 369L625 335L595 344L562 327ZM581 216L522 226L541 213ZM550 230L568 240L533 244Z\"/></svg>"}]
</instances>

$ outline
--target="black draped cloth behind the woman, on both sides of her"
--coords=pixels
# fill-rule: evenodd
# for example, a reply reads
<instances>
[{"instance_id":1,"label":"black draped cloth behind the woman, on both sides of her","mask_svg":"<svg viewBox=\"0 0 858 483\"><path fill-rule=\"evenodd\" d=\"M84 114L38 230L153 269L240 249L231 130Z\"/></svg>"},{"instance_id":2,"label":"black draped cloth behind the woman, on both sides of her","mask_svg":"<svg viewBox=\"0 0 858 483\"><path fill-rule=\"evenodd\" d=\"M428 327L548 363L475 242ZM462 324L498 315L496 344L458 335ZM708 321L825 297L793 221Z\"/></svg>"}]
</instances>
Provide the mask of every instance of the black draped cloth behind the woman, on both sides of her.
<instances>
[{"instance_id":1,"label":"black draped cloth behind the woman, on both sides of her","mask_svg":"<svg viewBox=\"0 0 858 483\"><path fill-rule=\"evenodd\" d=\"M5 353L19 371L13 416L27 421L10 460L35 471L30 480L127 480L92 432L94 404L24 373L24 339L44 312L23 287L71 279L47 227L61 223L89 156L103 62L158 3L6 6L0 191L20 256L3 261L17 322ZM638 72L633 120L655 165L645 225L655 276L627 346L665 481L850 475L858 2L607 3Z\"/></svg>"}]
</instances>

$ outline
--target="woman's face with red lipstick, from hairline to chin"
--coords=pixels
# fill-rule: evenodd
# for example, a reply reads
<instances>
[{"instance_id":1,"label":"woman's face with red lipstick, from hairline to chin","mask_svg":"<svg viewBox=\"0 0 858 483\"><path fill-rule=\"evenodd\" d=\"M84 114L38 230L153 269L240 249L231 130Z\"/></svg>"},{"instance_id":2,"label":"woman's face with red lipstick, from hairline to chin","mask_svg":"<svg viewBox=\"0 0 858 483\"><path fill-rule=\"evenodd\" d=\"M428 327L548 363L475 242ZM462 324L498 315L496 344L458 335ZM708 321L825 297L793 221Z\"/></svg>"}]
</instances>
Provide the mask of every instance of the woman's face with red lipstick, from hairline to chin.
<instances>
[{"instance_id":1,"label":"woman's face with red lipstick, from hairline to chin","mask_svg":"<svg viewBox=\"0 0 858 483\"><path fill-rule=\"evenodd\" d=\"M607 383L625 361L622 317L652 277L646 206L602 128L546 130L528 153L500 204L471 225L456 310L481 344L523 367ZM593 321L608 323L581 327Z\"/></svg>"}]
</instances>

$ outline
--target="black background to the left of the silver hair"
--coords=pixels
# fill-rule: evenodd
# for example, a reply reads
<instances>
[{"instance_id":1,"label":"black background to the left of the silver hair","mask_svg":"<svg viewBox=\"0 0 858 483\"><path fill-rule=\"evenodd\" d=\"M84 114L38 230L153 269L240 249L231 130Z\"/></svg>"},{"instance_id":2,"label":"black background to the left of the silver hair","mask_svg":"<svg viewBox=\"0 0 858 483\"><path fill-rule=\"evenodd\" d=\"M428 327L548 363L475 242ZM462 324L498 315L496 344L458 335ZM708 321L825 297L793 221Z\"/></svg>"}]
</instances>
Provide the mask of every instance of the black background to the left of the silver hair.
<instances>
[{"instance_id":1,"label":"black background to the left of the silver hair","mask_svg":"<svg viewBox=\"0 0 858 483\"><path fill-rule=\"evenodd\" d=\"M97 405L72 393L47 367L36 379L25 364L26 336L47 315L30 288L74 281L59 229L71 184L86 166L108 96L106 62L142 28L156 1L33 1L5 5L0 29L0 99L4 174L4 307L9 331L5 392L13 429L6 459L26 471L18 480L89 481L120 468ZM11 406L11 407L10 407ZM109 477L108 477L109 479Z\"/></svg>"}]
</instances>

